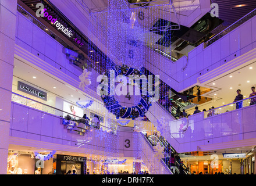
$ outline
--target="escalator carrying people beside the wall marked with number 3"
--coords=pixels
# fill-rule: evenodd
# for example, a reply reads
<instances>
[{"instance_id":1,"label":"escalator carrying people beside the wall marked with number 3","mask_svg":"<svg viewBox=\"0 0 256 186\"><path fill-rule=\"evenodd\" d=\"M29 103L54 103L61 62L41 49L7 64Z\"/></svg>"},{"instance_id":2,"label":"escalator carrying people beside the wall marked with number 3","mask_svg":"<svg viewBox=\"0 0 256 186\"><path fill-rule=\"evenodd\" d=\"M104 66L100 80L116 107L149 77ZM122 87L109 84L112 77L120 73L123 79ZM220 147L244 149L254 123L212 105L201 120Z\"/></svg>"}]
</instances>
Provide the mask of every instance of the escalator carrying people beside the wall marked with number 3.
<instances>
[{"instance_id":1,"label":"escalator carrying people beside the wall marked with number 3","mask_svg":"<svg viewBox=\"0 0 256 186\"><path fill-rule=\"evenodd\" d=\"M175 149L162 136L157 137L156 135L149 135L146 138L152 146L155 146L159 143L161 146L164 147L166 152L168 152L170 150L172 153L177 154ZM188 171L187 167L177 157L176 157L175 160L176 160L175 174L191 174L190 171ZM169 169L169 166L168 166L168 163L167 163L168 159L163 158L162 161L166 164L166 166ZM182 169L179 169L180 166L182 166ZM183 170L183 172L180 173L180 170ZM172 170L170 170L170 171L172 171ZM172 171L172 173L173 173L173 171Z\"/></svg>"}]
</instances>

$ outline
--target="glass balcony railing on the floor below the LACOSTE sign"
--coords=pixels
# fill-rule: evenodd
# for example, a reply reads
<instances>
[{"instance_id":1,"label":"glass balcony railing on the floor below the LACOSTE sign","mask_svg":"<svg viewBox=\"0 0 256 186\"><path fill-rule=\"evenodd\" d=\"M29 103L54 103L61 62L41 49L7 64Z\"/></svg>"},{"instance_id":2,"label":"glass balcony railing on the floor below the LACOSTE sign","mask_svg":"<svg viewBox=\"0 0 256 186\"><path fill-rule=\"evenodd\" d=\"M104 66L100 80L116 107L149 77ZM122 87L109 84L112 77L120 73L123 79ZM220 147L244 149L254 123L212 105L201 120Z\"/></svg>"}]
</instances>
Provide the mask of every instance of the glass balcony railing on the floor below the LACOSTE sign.
<instances>
[{"instance_id":1,"label":"glass balcony railing on the floor below the LACOSTE sign","mask_svg":"<svg viewBox=\"0 0 256 186\"><path fill-rule=\"evenodd\" d=\"M63 124L65 124L67 126L67 129L69 130L84 133L85 131L89 130L88 127L93 127L93 128L104 130L106 133L116 134L117 124L113 128L106 127L101 124L88 121L83 117L73 115L72 113L69 113L69 112L65 112L64 110L57 109L57 108L54 108L53 106L49 106L44 103L35 101L34 99L30 99L25 96L16 94L15 92L12 92L12 102L16 102L16 103L28 106L30 108L34 108L42 112L46 112L51 115L60 117L61 119L63 119Z\"/></svg>"}]
</instances>

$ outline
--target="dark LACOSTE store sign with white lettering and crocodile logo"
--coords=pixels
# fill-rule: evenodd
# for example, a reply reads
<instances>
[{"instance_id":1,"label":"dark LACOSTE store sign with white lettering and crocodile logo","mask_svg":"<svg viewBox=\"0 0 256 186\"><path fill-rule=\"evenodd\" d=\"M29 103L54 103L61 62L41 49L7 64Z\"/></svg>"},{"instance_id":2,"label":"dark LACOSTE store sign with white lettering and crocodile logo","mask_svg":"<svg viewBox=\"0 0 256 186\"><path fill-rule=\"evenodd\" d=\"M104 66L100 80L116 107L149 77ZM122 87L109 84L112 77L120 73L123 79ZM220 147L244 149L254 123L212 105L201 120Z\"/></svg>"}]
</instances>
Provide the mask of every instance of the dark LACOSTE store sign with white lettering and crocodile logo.
<instances>
[{"instance_id":1,"label":"dark LACOSTE store sign with white lettering and crocodile logo","mask_svg":"<svg viewBox=\"0 0 256 186\"><path fill-rule=\"evenodd\" d=\"M37 98L40 98L44 101L47 101L47 93L43 92L41 90L38 90L37 88L31 87L30 85L24 84L20 81L18 81L18 88L19 91L25 92L27 94L33 95Z\"/></svg>"}]
</instances>

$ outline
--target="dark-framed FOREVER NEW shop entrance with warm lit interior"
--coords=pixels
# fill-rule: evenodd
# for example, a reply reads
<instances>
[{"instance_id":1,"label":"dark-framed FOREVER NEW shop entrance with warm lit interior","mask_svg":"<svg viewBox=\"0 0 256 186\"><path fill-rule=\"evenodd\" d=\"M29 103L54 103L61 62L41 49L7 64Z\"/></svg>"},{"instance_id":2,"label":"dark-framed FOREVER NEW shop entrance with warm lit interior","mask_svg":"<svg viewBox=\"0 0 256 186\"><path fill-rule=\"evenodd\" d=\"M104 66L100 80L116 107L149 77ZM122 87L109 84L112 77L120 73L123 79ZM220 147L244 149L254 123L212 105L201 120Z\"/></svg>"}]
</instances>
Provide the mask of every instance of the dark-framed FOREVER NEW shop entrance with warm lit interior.
<instances>
[{"instance_id":1,"label":"dark-framed FOREVER NEW shop entrance with warm lit interior","mask_svg":"<svg viewBox=\"0 0 256 186\"><path fill-rule=\"evenodd\" d=\"M57 155L56 174L65 174L67 171L76 171L76 174L85 174L86 158L80 156Z\"/></svg>"}]
</instances>

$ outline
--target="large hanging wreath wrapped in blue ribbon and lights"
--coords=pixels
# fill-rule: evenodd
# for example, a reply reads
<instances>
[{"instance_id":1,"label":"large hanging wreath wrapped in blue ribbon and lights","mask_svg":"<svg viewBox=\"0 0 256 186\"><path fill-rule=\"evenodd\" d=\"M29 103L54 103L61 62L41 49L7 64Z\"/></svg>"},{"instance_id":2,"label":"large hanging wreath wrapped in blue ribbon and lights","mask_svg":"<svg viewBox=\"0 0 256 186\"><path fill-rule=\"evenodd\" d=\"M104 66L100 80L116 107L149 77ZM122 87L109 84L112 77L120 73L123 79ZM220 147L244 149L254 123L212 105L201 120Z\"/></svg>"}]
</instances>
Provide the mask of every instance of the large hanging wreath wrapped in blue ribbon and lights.
<instances>
[{"instance_id":1,"label":"large hanging wreath wrapped in blue ribbon and lights","mask_svg":"<svg viewBox=\"0 0 256 186\"><path fill-rule=\"evenodd\" d=\"M115 78L118 75L123 75L126 77L131 75L131 76L140 78L140 76L143 75L143 73L141 73L140 70L128 67L126 65L112 67L111 70L115 71ZM107 71L105 75L108 78L110 78L110 71ZM147 83L147 81L146 81L146 83ZM141 95L140 102L138 102L138 104L136 106L132 106L132 107L125 107L125 106L120 105L119 102L116 101L115 96L110 95L111 85L110 85L109 81L108 81L108 85L106 85L106 84L104 84L104 80L102 79L101 83L99 83L99 84L104 85L104 86L102 86L101 91L104 91L104 87L107 87L107 90L105 90L105 91L108 92L108 94L101 95L101 99L104 102L106 109L108 109L109 112L113 113L113 115L116 116L116 119L119 119L119 117L121 117L123 119L134 120L139 116L144 116L145 113L148 111L148 109L151 106L150 98L152 96L150 96L148 94L147 87L144 88L145 81L140 81L140 83L138 85L138 87L140 88L140 95ZM142 94L142 92L144 94Z\"/></svg>"}]
</instances>

